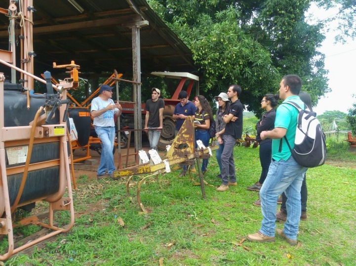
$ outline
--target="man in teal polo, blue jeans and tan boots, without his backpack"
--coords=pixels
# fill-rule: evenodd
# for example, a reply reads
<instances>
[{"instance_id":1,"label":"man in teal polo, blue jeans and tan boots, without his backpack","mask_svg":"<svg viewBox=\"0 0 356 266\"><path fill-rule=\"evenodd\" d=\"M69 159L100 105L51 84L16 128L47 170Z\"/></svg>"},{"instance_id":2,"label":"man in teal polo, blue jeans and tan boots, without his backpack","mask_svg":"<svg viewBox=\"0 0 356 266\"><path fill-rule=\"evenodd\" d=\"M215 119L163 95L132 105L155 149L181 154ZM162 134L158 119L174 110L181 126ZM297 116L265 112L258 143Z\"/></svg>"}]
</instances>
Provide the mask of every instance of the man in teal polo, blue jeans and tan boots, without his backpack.
<instances>
[{"instance_id":1,"label":"man in teal polo, blue jeans and tan boots, without his backpack","mask_svg":"<svg viewBox=\"0 0 356 266\"><path fill-rule=\"evenodd\" d=\"M297 75L286 75L280 82L279 98L284 102L292 101L303 110L304 103L298 94L302 80ZM301 215L300 189L307 167L298 164L292 156L284 136L293 149L296 136L299 111L292 104L280 104L276 112L275 129L263 131L261 139L272 138L272 163L267 178L260 190L262 226L254 234L248 234L247 239L257 242L274 242L275 233L284 238L290 245L297 244L297 233ZM282 139L282 141L281 141ZM287 196L288 216L284 230L276 228L277 198L282 192Z\"/></svg>"}]
</instances>

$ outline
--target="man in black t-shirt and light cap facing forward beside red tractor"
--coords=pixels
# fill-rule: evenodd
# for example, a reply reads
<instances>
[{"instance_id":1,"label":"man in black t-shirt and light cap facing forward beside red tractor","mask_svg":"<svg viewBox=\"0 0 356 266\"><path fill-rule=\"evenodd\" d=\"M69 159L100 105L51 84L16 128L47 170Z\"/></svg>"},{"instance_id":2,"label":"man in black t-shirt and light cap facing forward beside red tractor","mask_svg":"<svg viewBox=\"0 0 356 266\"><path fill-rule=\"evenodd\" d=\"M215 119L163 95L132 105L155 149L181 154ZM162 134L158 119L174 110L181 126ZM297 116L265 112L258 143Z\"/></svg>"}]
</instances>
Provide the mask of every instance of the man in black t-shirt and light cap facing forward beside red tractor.
<instances>
[{"instance_id":1,"label":"man in black t-shirt and light cap facing forward beside red tractor","mask_svg":"<svg viewBox=\"0 0 356 266\"><path fill-rule=\"evenodd\" d=\"M145 128L148 131L148 139L150 141L150 150L157 150L157 145L160 137L160 131L163 127L163 110L164 100L159 98L160 90L152 88L152 99L146 101L146 117ZM156 129L156 130L148 130Z\"/></svg>"}]
</instances>

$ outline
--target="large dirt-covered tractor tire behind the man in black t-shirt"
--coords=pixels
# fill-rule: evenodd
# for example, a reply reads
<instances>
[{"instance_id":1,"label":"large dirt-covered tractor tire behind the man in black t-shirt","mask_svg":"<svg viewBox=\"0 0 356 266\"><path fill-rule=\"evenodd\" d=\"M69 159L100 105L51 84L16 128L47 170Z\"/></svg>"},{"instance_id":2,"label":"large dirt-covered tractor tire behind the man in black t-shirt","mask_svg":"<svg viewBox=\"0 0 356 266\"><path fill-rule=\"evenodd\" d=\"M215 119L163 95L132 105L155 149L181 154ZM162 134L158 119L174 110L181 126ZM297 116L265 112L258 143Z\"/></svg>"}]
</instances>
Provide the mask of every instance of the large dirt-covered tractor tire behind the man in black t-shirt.
<instances>
[{"instance_id":1,"label":"large dirt-covered tractor tire behind the man in black t-shirt","mask_svg":"<svg viewBox=\"0 0 356 266\"><path fill-rule=\"evenodd\" d=\"M174 105L166 105L163 110L163 127L160 133L157 148L160 151L166 150L166 145L170 145L175 138L176 122L173 119Z\"/></svg>"}]
</instances>

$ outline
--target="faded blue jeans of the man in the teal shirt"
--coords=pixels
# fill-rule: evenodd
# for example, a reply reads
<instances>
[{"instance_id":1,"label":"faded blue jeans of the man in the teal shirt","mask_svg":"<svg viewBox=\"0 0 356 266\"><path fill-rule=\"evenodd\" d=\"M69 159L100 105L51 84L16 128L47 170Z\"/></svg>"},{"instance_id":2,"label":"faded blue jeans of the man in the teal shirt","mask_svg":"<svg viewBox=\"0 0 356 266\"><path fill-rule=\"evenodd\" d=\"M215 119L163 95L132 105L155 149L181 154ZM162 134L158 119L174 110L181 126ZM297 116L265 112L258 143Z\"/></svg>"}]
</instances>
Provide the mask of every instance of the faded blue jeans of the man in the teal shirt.
<instances>
[{"instance_id":1,"label":"faded blue jeans of the man in the teal shirt","mask_svg":"<svg viewBox=\"0 0 356 266\"><path fill-rule=\"evenodd\" d=\"M260 190L263 215L261 233L275 236L277 199L284 191L288 197L286 202L288 216L283 232L288 238L297 239L301 214L300 188L307 169L300 166L292 156L287 161L272 160L267 178Z\"/></svg>"}]
</instances>

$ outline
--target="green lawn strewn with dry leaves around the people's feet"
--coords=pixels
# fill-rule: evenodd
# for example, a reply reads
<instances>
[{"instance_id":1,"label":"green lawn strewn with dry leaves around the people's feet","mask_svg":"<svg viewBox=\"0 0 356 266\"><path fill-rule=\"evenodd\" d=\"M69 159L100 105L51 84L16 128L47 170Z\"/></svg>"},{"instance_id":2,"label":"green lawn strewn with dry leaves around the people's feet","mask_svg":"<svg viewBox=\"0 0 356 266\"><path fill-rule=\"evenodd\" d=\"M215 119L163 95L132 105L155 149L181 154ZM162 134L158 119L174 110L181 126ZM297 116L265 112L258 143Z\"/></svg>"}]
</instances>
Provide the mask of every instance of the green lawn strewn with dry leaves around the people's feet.
<instances>
[{"instance_id":1,"label":"green lawn strewn with dry leaves around the people's feet","mask_svg":"<svg viewBox=\"0 0 356 266\"><path fill-rule=\"evenodd\" d=\"M17 255L5 264L156 266L163 260L164 266L355 265L355 168L324 165L308 170L308 220L300 223L298 246L278 236L275 243L254 243L244 239L259 230L262 215L252 205L257 192L246 186L259 178L258 149L236 147L234 154L238 186L224 193L215 190L220 181L213 157L204 178L207 199L188 177L179 178L179 171L159 175L158 183L147 180L140 195L152 210L149 214L137 206L137 186L128 197L124 182L82 176L85 182L78 182L80 190L74 192L75 209L82 213L75 227L32 256ZM353 156L348 160L355 160ZM69 219L60 218L63 223Z\"/></svg>"}]
</instances>

